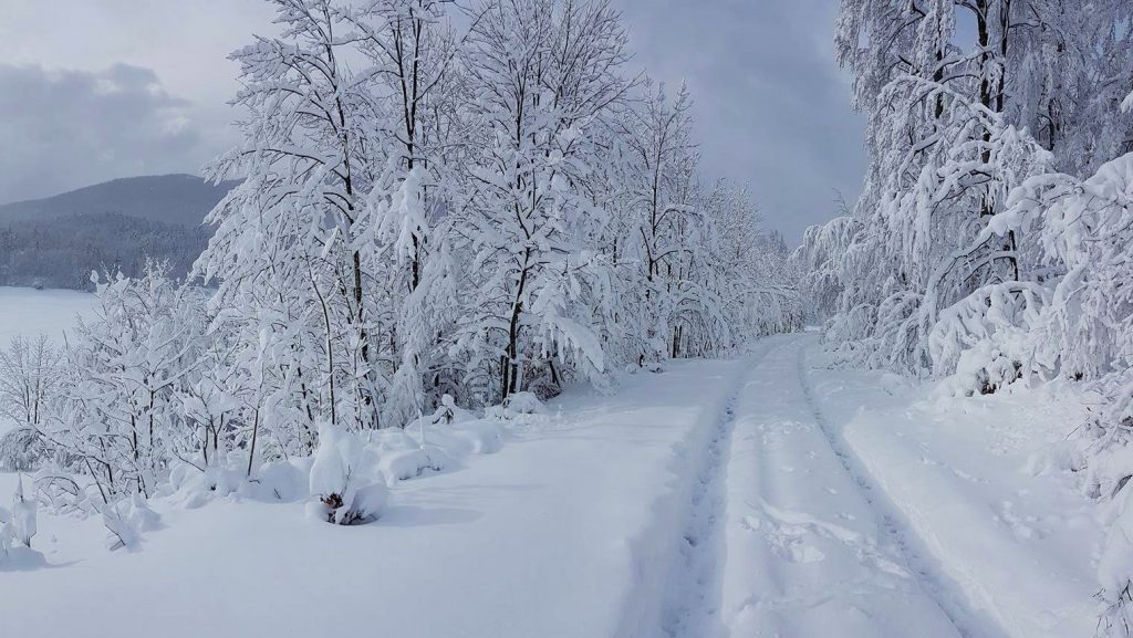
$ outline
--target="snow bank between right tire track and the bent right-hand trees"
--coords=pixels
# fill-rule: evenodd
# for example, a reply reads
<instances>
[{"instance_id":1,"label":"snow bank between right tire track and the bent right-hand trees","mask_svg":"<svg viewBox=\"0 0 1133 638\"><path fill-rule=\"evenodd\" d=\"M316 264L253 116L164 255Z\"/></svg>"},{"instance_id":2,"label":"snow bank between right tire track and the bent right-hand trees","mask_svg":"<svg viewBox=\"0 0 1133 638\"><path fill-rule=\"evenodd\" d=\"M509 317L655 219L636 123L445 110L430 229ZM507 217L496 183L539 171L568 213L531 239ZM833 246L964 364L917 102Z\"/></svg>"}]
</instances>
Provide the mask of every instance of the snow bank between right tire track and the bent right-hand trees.
<instances>
[{"instance_id":1,"label":"snow bank between right tire track and the bent right-hand trees","mask_svg":"<svg viewBox=\"0 0 1133 638\"><path fill-rule=\"evenodd\" d=\"M1067 470L1036 462L1082 423L1080 401L1057 386L951 398L886 392L876 373L810 376L832 427L962 606L1017 638L1092 635L1099 522Z\"/></svg>"}]
</instances>

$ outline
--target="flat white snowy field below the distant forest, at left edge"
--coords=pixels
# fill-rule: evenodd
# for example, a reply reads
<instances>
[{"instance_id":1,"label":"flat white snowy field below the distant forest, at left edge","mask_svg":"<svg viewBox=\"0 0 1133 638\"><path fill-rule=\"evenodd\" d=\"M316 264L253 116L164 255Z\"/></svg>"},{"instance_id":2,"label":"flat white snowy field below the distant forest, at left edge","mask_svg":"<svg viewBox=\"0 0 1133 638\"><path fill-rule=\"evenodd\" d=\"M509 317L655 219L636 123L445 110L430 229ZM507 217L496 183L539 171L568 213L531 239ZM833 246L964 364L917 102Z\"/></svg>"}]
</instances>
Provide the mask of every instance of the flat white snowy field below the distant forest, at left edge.
<instances>
[{"instance_id":1,"label":"flat white snowy field below the distant forest, at left edge","mask_svg":"<svg viewBox=\"0 0 1133 638\"><path fill-rule=\"evenodd\" d=\"M45 334L61 342L77 316L93 312L94 303L88 292L0 286L0 348L19 334Z\"/></svg>"}]
</instances>

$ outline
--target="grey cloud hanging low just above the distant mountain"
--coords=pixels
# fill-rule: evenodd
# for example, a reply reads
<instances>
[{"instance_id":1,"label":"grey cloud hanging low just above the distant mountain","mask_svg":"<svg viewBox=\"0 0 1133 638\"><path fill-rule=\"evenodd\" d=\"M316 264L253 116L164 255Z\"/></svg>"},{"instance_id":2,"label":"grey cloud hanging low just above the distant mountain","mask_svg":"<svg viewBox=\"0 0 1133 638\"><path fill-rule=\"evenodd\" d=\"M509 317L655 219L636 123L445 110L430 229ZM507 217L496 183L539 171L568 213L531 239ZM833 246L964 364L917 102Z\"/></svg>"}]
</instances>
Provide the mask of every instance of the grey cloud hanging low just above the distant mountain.
<instances>
[{"instance_id":1,"label":"grey cloud hanging low just above the distant mountain","mask_svg":"<svg viewBox=\"0 0 1133 638\"><path fill-rule=\"evenodd\" d=\"M0 65L0 203L130 175L195 172L204 148L191 104L157 75Z\"/></svg>"}]
</instances>

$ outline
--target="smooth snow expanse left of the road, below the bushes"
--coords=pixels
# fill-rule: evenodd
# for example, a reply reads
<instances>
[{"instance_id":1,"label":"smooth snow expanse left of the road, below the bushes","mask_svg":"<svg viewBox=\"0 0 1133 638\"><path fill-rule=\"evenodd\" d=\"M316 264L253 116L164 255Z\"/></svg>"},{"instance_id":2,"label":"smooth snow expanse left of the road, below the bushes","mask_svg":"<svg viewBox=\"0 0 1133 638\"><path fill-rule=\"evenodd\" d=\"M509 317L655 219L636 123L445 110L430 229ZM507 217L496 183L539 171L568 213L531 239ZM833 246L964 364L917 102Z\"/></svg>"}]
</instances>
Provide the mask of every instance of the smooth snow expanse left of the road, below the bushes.
<instances>
[{"instance_id":1,"label":"smooth snow expanse left of the road, below the bushes","mask_svg":"<svg viewBox=\"0 0 1133 638\"><path fill-rule=\"evenodd\" d=\"M614 395L576 391L555 405L570 419L399 483L370 525L315 521L300 503L154 499L162 528L107 552L101 521L41 512L52 569L0 577L6 632L648 635L685 470L736 366L679 363Z\"/></svg>"}]
</instances>

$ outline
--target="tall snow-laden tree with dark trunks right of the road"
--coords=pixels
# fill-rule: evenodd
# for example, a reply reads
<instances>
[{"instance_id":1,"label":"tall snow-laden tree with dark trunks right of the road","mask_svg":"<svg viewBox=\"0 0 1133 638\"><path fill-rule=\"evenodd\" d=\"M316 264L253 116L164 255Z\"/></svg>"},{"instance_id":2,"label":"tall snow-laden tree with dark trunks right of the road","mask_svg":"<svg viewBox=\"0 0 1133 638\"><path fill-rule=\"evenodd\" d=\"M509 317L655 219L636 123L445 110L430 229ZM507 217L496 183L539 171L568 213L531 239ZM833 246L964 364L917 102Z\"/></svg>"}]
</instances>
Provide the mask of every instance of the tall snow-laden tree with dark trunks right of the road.
<instances>
[{"instance_id":1,"label":"tall snow-laden tree with dark trunks right of the road","mask_svg":"<svg viewBox=\"0 0 1133 638\"><path fill-rule=\"evenodd\" d=\"M870 156L857 229L840 248L843 299L830 324L849 357L946 372L955 358L936 365L929 346L944 308L987 286L1046 277L1032 238L988 232L988 222L1028 178L1097 165L1085 141L1113 150L1128 138L1113 113L1133 82L1116 61L1128 56L1130 9L1105 8L843 1L838 58L869 118ZM962 20L974 33L959 29ZM1105 117L1087 114L1100 112L1094 95L1105 96ZM832 228L808 240L842 236Z\"/></svg>"}]
</instances>

